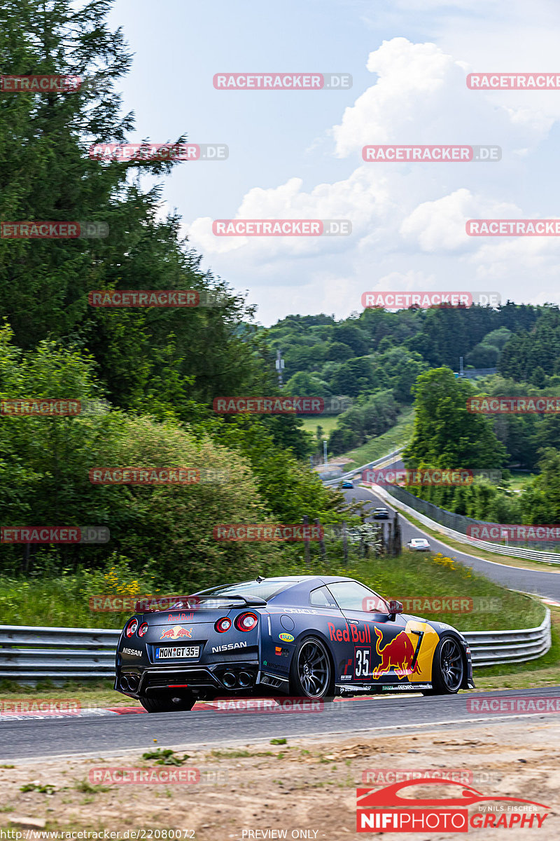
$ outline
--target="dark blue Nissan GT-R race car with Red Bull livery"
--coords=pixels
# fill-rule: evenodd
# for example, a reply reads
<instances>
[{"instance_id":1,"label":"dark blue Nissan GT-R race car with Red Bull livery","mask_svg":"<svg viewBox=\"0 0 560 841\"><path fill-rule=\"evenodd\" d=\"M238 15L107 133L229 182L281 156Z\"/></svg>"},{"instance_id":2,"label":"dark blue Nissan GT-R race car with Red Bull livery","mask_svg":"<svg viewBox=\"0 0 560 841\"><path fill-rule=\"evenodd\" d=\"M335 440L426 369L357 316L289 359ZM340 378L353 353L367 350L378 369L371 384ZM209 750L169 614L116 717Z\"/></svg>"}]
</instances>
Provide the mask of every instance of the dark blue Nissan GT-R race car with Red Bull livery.
<instances>
[{"instance_id":1,"label":"dark blue Nissan GT-R race car with Red Bull livery","mask_svg":"<svg viewBox=\"0 0 560 841\"><path fill-rule=\"evenodd\" d=\"M403 614L355 579L299 575L259 576L135 614L118 641L114 688L164 712L217 697L444 695L474 682L455 628Z\"/></svg>"}]
</instances>

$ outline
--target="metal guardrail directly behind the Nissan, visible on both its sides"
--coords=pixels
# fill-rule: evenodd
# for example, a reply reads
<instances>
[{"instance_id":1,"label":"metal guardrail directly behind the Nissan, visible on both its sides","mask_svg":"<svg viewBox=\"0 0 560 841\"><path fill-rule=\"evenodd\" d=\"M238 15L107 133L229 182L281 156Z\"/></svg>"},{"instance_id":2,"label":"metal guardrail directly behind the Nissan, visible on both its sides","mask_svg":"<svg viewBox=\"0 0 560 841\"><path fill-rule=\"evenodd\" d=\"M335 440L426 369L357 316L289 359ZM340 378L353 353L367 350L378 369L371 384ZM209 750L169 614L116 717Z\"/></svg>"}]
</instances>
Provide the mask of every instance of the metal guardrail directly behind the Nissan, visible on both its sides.
<instances>
[{"instance_id":1,"label":"metal guardrail directly behind the Nissan, visible on both its sides","mask_svg":"<svg viewBox=\"0 0 560 841\"><path fill-rule=\"evenodd\" d=\"M475 666L523 663L551 646L550 611L542 625L518 631L468 631ZM0 679L113 678L120 631L0 625Z\"/></svg>"}]
</instances>

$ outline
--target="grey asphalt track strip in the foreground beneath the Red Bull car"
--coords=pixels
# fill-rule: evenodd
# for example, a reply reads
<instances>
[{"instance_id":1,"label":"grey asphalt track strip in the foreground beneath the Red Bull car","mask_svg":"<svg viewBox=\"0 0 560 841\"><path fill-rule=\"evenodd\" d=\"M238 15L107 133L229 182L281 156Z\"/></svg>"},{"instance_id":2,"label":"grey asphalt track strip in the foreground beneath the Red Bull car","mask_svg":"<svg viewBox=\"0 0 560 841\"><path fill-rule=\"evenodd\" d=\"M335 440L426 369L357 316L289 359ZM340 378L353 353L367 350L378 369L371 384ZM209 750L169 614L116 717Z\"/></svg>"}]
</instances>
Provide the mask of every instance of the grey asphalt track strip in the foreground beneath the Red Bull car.
<instances>
[{"instance_id":1,"label":"grey asphalt track strip in the foreground beneath the Red Bull car","mask_svg":"<svg viewBox=\"0 0 560 841\"><path fill-rule=\"evenodd\" d=\"M560 709L560 686L539 690L462 692L456 696L392 696L360 698L326 704L322 711L286 712L160 712L110 718L64 718L55 721L8 722L0 720L0 759L39 759L71 754L116 754L130 749L167 747L182 749L202 744L232 747L270 738L305 738L340 734L340 738L384 738L408 730L468 727L505 719L546 719L551 713L484 711L489 699L554 698ZM479 710L469 708L478 701ZM509 702L508 702L509 706ZM552 713L553 714L553 713ZM557 715L557 712L556 712ZM157 740L155 742L154 740Z\"/></svg>"}]
</instances>

